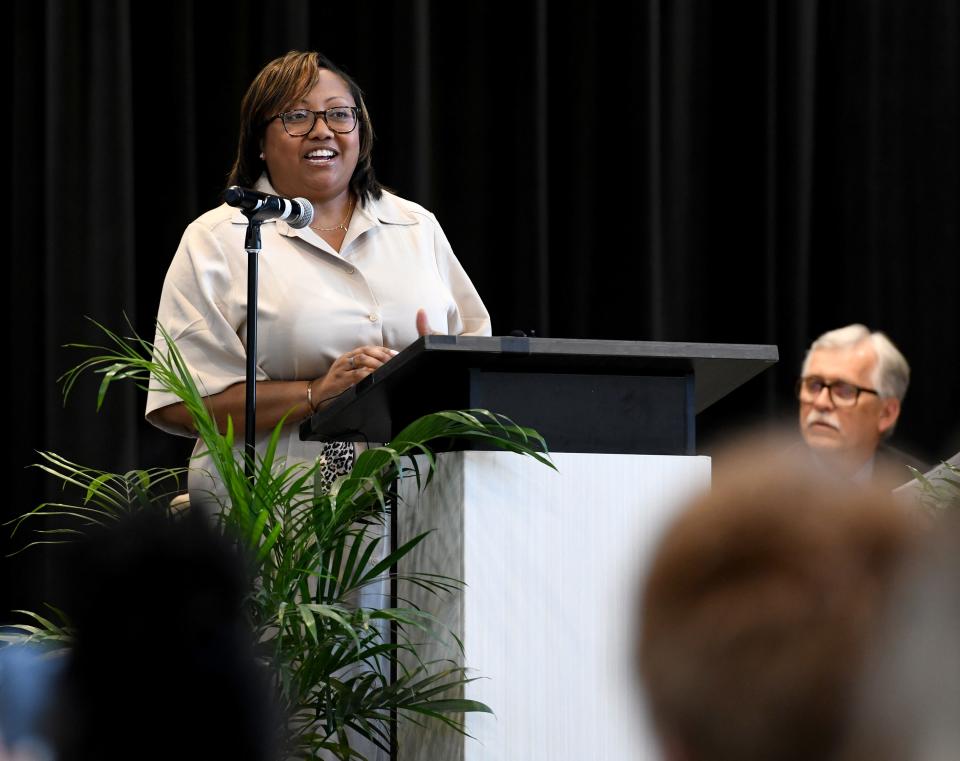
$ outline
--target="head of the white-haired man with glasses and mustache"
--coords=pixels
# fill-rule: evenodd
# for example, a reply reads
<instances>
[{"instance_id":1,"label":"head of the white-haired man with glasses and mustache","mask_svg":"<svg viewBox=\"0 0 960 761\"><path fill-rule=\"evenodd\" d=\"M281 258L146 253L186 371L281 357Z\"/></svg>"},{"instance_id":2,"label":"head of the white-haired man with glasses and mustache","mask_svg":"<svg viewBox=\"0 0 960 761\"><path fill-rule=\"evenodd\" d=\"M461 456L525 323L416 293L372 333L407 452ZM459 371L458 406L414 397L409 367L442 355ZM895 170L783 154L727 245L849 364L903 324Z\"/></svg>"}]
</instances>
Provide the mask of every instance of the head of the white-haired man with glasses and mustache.
<instances>
[{"instance_id":1,"label":"head of the white-haired man with glasses and mustache","mask_svg":"<svg viewBox=\"0 0 960 761\"><path fill-rule=\"evenodd\" d=\"M817 460L854 481L908 481L906 465L921 464L892 456L881 442L893 432L909 383L906 359L879 331L847 325L814 341L797 397L800 431Z\"/></svg>"}]
</instances>

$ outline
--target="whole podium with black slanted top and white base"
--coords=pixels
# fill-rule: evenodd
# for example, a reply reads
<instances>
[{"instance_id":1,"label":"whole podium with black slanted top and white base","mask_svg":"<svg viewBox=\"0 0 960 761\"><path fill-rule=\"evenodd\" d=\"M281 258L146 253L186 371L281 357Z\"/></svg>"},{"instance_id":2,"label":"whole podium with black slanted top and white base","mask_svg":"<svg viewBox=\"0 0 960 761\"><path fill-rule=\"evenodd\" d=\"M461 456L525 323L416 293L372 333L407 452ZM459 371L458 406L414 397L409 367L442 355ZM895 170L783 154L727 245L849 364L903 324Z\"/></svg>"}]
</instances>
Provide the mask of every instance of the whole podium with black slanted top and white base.
<instances>
[{"instance_id":1,"label":"whole podium with black slanted top and white base","mask_svg":"<svg viewBox=\"0 0 960 761\"><path fill-rule=\"evenodd\" d=\"M495 715L468 715L472 738L405 722L398 759L659 757L632 673L637 590L666 521L709 486L696 413L776 361L774 346L426 336L303 424L377 442L485 408L540 431L557 466L448 450L422 496L401 484L397 541L436 529L409 567L466 588L400 594L457 634L462 654L426 655L475 669L462 696Z\"/></svg>"}]
</instances>

